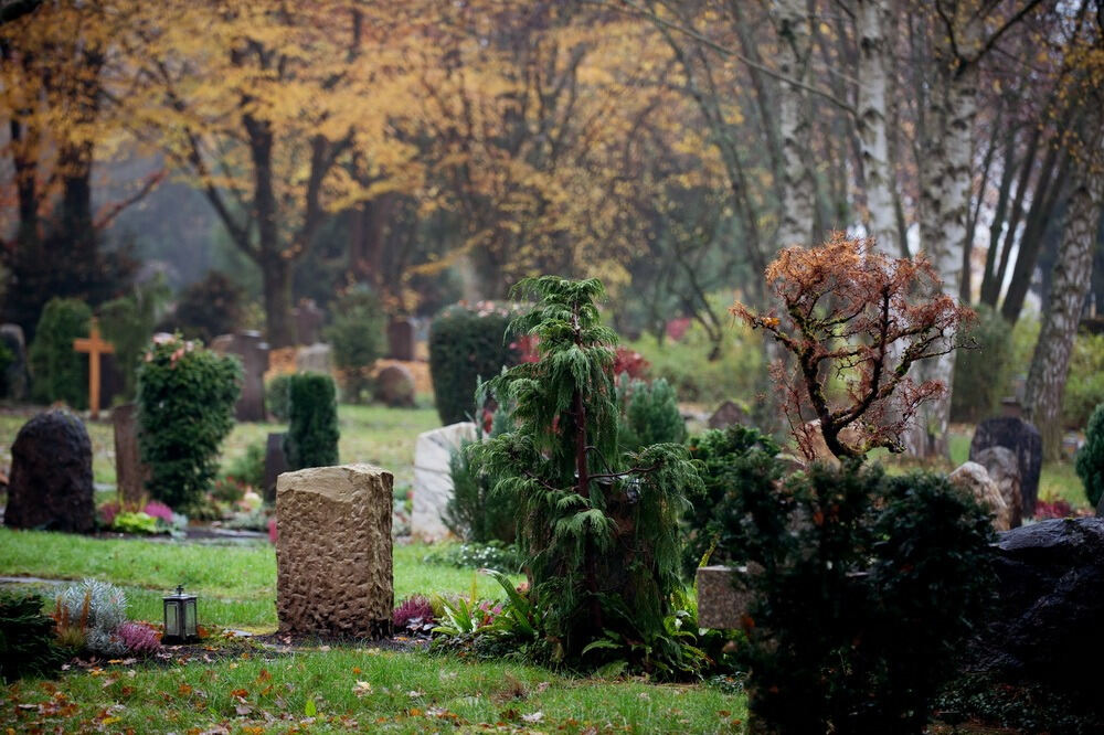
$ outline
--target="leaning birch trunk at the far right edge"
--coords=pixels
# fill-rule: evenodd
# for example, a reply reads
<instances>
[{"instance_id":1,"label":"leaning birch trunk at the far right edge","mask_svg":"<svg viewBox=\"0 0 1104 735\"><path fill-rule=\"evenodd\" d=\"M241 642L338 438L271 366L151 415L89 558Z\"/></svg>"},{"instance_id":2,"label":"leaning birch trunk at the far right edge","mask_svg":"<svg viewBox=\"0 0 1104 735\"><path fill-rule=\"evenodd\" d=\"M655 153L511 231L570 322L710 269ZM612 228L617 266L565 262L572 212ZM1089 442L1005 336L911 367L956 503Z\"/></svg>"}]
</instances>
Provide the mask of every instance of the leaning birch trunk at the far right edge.
<instances>
[{"instance_id":1,"label":"leaning birch trunk at the far right edge","mask_svg":"<svg viewBox=\"0 0 1104 735\"><path fill-rule=\"evenodd\" d=\"M1100 141L1096 143L1100 148ZM1095 157L1092 157L1095 158ZM1070 203L1054 263L1050 308L1028 373L1026 409L1042 435L1043 458L1058 459L1062 445L1062 393L1093 267L1093 251L1104 210L1104 175L1089 163L1074 167Z\"/></svg>"}]
</instances>

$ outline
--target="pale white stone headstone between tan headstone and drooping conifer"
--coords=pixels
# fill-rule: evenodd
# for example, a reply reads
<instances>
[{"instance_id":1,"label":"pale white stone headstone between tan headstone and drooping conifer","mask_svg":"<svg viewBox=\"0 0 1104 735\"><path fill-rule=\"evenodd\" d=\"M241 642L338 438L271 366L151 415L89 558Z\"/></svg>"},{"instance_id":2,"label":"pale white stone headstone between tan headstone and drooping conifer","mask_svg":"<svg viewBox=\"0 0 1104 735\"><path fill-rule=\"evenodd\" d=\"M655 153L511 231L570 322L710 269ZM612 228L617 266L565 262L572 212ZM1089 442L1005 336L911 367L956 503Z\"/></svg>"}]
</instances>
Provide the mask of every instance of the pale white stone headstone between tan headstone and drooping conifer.
<instances>
[{"instance_id":1,"label":"pale white stone headstone between tan headstone and drooping conifer","mask_svg":"<svg viewBox=\"0 0 1104 735\"><path fill-rule=\"evenodd\" d=\"M422 541L438 541L448 535L442 521L445 505L453 498L449 459L465 440L476 438L476 425L461 422L420 434L414 444L414 499L411 535Z\"/></svg>"}]
</instances>

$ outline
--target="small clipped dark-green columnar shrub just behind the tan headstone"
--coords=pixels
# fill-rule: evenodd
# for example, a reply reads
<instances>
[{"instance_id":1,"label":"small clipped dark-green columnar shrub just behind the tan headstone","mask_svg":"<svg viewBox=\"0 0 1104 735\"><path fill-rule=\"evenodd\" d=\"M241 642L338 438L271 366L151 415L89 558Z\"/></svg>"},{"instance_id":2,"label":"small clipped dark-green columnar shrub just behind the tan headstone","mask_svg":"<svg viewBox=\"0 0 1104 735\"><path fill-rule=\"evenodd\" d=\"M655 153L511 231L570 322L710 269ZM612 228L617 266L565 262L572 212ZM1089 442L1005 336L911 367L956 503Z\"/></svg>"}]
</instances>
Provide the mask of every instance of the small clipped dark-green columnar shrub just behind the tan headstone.
<instances>
[{"instance_id":1,"label":"small clipped dark-green columnar shrub just behind the tan headstone","mask_svg":"<svg viewBox=\"0 0 1104 735\"><path fill-rule=\"evenodd\" d=\"M284 439L288 467L330 467L338 464L338 404L333 379L300 373L288 382L288 427Z\"/></svg>"}]
</instances>

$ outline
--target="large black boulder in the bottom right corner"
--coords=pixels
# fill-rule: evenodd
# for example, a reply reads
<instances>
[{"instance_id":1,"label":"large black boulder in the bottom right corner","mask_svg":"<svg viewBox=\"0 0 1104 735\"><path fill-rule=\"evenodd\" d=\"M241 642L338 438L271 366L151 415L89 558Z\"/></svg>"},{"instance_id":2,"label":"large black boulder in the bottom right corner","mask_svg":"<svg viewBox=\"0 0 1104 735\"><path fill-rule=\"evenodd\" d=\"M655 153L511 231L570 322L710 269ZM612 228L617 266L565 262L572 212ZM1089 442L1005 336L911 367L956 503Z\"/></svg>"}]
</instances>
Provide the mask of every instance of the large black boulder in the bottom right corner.
<instances>
[{"instance_id":1,"label":"large black boulder in the bottom right corner","mask_svg":"<svg viewBox=\"0 0 1104 735\"><path fill-rule=\"evenodd\" d=\"M998 599L972 667L1098 697L1104 519L1041 521L1004 533L994 565Z\"/></svg>"}]
</instances>

